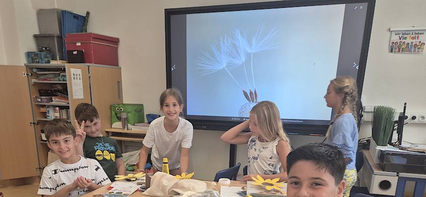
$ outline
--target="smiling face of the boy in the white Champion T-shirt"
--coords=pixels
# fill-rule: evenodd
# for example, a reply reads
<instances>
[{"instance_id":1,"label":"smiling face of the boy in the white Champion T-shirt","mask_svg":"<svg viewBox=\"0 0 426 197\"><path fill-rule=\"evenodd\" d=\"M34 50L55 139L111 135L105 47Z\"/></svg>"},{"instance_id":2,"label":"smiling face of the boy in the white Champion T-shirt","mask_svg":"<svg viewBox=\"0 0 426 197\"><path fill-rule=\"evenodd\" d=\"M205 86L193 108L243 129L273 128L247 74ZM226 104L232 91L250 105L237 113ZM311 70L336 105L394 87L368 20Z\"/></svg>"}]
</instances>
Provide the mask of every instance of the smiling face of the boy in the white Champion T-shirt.
<instances>
[{"instance_id":1,"label":"smiling face of the boy in the white Champion T-shirt","mask_svg":"<svg viewBox=\"0 0 426 197\"><path fill-rule=\"evenodd\" d=\"M75 147L77 143L77 138L74 138L72 135L52 135L49 138L48 146L63 163L69 163L68 161L74 159L76 155Z\"/></svg>"}]
</instances>

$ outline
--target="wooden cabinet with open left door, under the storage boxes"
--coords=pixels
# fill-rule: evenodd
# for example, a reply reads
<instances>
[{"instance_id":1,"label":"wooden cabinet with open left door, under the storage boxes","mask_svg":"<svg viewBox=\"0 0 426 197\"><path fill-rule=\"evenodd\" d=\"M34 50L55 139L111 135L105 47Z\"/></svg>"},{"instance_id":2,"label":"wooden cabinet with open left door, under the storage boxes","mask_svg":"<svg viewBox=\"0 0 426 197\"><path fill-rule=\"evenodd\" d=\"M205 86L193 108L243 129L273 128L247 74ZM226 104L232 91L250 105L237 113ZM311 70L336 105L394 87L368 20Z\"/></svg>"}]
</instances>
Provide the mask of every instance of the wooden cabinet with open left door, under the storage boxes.
<instances>
[{"instance_id":1,"label":"wooden cabinet with open left door, under the storage boxes","mask_svg":"<svg viewBox=\"0 0 426 197\"><path fill-rule=\"evenodd\" d=\"M83 98L76 98L71 69L81 72ZM54 70L66 75L66 81L38 80L41 72ZM76 71L76 70L74 70ZM48 160L49 147L42 140L42 129L51 118L44 109L58 107L69 110L66 119L74 124L74 110L80 103L93 103L98 109L104 128L111 125L110 105L122 103L120 67L93 64L25 64L0 66L0 180L39 176ZM93 78L91 78L93 77ZM118 81L118 82L117 82ZM40 89L66 88L68 103L49 103L35 100ZM64 115L65 116L65 115Z\"/></svg>"}]
</instances>

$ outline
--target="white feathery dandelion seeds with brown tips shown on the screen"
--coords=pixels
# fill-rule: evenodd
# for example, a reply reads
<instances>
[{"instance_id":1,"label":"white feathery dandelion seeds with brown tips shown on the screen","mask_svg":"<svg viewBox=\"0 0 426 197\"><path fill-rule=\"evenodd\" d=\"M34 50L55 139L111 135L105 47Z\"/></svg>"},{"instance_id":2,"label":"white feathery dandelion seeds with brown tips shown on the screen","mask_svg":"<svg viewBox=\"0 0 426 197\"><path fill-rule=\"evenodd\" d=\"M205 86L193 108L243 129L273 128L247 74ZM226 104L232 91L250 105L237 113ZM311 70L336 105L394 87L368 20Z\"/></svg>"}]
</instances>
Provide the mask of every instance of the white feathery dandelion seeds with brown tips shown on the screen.
<instances>
[{"instance_id":1,"label":"white feathery dandelion seeds with brown tips shown on the screen","mask_svg":"<svg viewBox=\"0 0 426 197\"><path fill-rule=\"evenodd\" d=\"M201 76L204 75L229 75L242 90L242 96L247 100L238 110L239 117L249 117L250 110L258 104L258 91L256 89L255 73L253 72L253 56L262 55L262 51L278 48L276 37L278 31L272 29L268 34L263 35L264 26L258 28L256 35L252 39L247 39L246 34L235 29L232 37L224 35L217 43L211 45L211 53L203 51L203 56L199 57L197 63ZM248 92L240 82L229 72L232 67L242 66L244 68L245 80L240 81L248 87ZM224 72L226 71L226 73ZM248 75L251 75L249 79Z\"/></svg>"}]
</instances>

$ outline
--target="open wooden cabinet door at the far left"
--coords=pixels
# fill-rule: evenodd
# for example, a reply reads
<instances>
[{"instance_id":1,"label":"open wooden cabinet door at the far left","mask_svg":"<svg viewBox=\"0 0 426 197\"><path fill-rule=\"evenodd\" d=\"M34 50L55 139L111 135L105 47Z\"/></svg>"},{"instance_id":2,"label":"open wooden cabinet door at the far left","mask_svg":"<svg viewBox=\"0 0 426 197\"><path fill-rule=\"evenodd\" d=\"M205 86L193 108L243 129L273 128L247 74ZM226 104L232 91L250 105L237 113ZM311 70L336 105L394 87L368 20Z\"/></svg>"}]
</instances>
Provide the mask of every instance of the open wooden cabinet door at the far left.
<instances>
[{"instance_id":1,"label":"open wooden cabinet door at the far left","mask_svg":"<svg viewBox=\"0 0 426 197\"><path fill-rule=\"evenodd\" d=\"M28 80L23 66L0 66L1 179L39 175Z\"/></svg>"}]
</instances>

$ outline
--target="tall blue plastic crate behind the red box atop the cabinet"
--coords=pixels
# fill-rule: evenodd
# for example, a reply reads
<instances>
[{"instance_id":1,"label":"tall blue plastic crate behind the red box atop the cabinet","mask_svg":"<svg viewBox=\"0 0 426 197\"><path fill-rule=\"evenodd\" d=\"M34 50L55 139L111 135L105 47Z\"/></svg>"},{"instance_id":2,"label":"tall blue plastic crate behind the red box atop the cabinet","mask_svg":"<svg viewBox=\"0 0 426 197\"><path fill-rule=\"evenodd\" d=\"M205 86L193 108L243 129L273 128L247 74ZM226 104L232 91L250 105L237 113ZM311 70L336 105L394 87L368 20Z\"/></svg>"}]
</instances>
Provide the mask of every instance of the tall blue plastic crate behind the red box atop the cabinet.
<instances>
[{"instance_id":1,"label":"tall blue plastic crate behind the red box atop the cabinet","mask_svg":"<svg viewBox=\"0 0 426 197\"><path fill-rule=\"evenodd\" d=\"M66 60L65 37L69 33L81 33L83 31L85 16L62 10L62 43L63 43L63 59Z\"/></svg>"}]
</instances>

